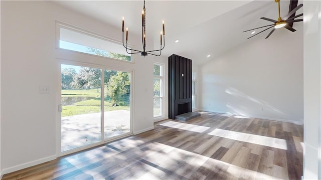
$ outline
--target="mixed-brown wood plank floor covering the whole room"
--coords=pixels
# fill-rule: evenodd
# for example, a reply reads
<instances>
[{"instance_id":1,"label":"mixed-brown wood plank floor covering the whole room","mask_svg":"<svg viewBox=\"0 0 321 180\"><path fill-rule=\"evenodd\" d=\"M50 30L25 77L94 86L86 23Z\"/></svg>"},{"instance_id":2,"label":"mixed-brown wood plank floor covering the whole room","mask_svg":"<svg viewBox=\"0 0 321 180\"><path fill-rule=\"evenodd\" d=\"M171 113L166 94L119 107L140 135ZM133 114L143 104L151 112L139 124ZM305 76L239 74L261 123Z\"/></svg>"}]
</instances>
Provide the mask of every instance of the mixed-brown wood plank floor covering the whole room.
<instances>
[{"instance_id":1,"label":"mixed-brown wood plank floor covering the whole room","mask_svg":"<svg viewBox=\"0 0 321 180\"><path fill-rule=\"evenodd\" d=\"M201 114L3 179L301 179L302 125Z\"/></svg>"}]
</instances>

